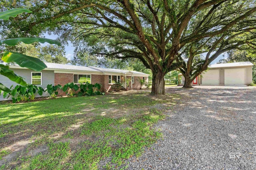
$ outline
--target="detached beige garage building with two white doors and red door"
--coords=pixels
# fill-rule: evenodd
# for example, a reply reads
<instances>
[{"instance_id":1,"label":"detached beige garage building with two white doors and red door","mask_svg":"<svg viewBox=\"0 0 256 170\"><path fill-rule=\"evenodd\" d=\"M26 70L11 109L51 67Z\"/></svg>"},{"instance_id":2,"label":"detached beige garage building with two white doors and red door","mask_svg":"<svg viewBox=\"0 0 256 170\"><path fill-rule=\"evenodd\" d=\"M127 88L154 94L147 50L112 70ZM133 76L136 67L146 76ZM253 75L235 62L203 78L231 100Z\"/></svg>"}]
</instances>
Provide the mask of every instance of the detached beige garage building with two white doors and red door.
<instances>
[{"instance_id":1,"label":"detached beige garage building with two white doors and red door","mask_svg":"<svg viewBox=\"0 0 256 170\"><path fill-rule=\"evenodd\" d=\"M212 64L209 70L197 76L192 85L248 85L252 83L252 66L249 61L239 63ZM179 74L180 84L184 84L184 76Z\"/></svg>"}]
</instances>

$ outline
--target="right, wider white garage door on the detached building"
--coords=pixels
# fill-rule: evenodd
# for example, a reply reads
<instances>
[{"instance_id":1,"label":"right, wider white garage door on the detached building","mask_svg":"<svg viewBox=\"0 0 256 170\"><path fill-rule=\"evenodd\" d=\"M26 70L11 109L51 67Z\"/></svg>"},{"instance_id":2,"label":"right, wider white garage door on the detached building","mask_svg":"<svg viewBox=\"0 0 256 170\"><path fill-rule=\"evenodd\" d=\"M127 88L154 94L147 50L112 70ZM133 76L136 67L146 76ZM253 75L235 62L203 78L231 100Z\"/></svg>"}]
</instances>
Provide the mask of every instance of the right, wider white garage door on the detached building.
<instances>
[{"instance_id":1,"label":"right, wider white garage door on the detached building","mask_svg":"<svg viewBox=\"0 0 256 170\"><path fill-rule=\"evenodd\" d=\"M246 68L225 69L224 84L225 85L245 85Z\"/></svg>"}]
</instances>

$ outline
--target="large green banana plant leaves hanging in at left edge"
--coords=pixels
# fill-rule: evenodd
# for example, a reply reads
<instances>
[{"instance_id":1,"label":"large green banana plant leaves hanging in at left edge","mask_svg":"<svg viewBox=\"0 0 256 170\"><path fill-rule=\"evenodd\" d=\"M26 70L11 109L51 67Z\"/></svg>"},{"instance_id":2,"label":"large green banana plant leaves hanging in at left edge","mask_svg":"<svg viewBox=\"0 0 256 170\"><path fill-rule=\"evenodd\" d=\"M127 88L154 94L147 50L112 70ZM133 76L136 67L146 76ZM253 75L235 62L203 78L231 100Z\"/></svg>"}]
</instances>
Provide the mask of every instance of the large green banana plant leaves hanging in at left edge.
<instances>
[{"instance_id":1,"label":"large green banana plant leaves hanging in at left edge","mask_svg":"<svg viewBox=\"0 0 256 170\"><path fill-rule=\"evenodd\" d=\"M8 20L10 17L16 17L18 14L22 14L23 12L31 13L32 11L25 8L15 8L12 10L7 10L4 12L0 12L0 20ZM19 37L19 38L12 38L12 39L4 39L4 40L0 40L0 45L6 44L8 46L14 46L14 45L17 45L19 42L23 42L25 44L39 42L39 43L50 43L50 44L60 45L60 43L56 40L39 38L39 37ZM44 62L42 62L40 59L37 59L35 57L30 57L27 55L23 55L21 53L15 53L11 51L3 51L2 53L3 53L2 61L6 63L14 62L21 67L26 67L38 72L47 67L44 64ZM15 74L9 68L10 68L9 66L0 64L0 74L8 77L10 80L22 86L26 86L27 83L24 81L24 78ZM2 91L11 92L9 88L7 88L6 86L0 83L0 94Z\"/></svg>"}]
</instances>

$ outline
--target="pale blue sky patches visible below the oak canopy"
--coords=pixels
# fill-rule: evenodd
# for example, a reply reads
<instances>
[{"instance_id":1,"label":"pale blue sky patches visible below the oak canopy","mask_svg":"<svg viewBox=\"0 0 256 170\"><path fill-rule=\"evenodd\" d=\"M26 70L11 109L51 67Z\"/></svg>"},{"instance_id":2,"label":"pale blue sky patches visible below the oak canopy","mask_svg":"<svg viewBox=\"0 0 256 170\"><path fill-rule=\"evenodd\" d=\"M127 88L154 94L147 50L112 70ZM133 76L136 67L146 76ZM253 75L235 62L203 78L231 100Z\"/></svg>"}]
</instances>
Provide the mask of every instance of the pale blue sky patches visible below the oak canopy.
<instances>
[{"instance_id":1,"label":"pale blue sky patches visible below the oak canopy","mask_svg":"<svg viewBox=\"0 0 256 170\"><path fill-rule=\"evenodd\" d=\"M57 39L57 35L48 35L48 34L44 34L44 36L46 38L49 39ZM60 42L61 43L61 42ZM74 47L72 46L72 43L68 42L68 45L65 45L65 51L66 51L66 58L69 60L72 60L74 58ZM223 55L220 55L219 57L217 57L214 61L212 61L211 64L216 64L220 59L226 58L225 56L223 57Z\"/></svg>"}]
</instances>

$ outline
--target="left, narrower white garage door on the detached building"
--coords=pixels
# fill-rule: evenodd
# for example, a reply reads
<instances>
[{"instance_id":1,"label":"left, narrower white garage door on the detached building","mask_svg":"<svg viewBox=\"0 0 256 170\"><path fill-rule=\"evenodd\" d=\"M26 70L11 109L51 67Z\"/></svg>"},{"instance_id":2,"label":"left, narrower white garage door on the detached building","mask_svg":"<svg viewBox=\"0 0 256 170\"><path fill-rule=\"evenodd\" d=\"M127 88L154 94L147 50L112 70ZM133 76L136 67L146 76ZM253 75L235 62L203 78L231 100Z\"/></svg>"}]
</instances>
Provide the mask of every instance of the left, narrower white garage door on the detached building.
<instances>
[{"instance_id":1,"label":"left, narrower white garage door on the detached building","mask_svg":"<svg viewBox=\"0 0 256 170\"><path fill-rule=\"evenodd\" d=\"M207 70L202 73L202 84L218 85L220 84L220 70Z\"/></svg>"}]
</instances>

